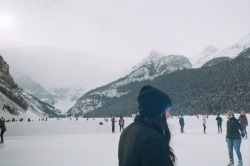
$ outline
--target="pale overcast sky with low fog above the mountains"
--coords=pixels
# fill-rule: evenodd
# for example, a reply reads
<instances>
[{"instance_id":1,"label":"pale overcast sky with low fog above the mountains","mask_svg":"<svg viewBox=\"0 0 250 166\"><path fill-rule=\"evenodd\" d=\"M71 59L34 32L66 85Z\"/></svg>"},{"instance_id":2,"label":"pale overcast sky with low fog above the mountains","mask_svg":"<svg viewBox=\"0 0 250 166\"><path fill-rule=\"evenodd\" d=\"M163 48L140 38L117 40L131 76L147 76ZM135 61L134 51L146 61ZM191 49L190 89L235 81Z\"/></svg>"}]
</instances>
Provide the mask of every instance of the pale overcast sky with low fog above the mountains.
<instances>
[{"instance_id":1,"label":"pale overcast sky with low fog above the mountains","mask_svg":"<svg viewBox=\"0 0 250 166\"><path fill-rule=\"evenodd\" d=\"M0 54L45 86L94 88L152 50L190 57L208 45L229 47L249 30L249 0L0 0L0 48L44 48L42 61L40 53L25 62Z\"/></svg>"}]
</instances>

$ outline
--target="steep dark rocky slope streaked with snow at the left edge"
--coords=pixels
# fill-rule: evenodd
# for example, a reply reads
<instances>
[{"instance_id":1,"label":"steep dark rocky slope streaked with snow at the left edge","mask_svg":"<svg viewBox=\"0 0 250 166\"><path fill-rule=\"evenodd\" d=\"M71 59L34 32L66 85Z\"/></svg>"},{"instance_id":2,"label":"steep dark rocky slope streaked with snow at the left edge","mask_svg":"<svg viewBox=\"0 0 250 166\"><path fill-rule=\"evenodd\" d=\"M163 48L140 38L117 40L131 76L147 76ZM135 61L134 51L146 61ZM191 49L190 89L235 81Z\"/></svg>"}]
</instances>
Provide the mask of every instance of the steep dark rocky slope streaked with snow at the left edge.
<instances>
[{"instance_id":1,"label":"steep dark rocky slope streaked with snow at the left edge","mask_svg":"<svg viewBox=\"0 0 250 166\"><path fill-rule=\"evenodd\" d=\"M0 55L0 107L5 117L58 117L61 111L19 88ZM4 109L5 108L5 109Z\"/></svg>"}]
</instances>

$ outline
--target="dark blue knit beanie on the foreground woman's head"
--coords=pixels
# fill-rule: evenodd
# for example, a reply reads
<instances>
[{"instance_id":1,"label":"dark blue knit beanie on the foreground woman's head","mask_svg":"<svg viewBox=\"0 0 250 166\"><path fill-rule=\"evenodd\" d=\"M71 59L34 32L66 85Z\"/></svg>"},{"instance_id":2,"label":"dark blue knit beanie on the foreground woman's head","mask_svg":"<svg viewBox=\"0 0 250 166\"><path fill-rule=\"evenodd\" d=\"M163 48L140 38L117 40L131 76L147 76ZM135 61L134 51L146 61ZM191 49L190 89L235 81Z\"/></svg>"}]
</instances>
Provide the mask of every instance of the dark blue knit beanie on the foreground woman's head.
<instances>
[{"instance_id":1,"label":"dark blue knit beanie on the foreground woman's head","mask_svg":"<svg viewBox=\"0 0 250 166\"><path fill-rule=\"evenodd\" d=\"M145 117L158 115L172 105L166 93L151 85L141 88L137 101L139 113Z\"/></svg>"}]
</instances>

